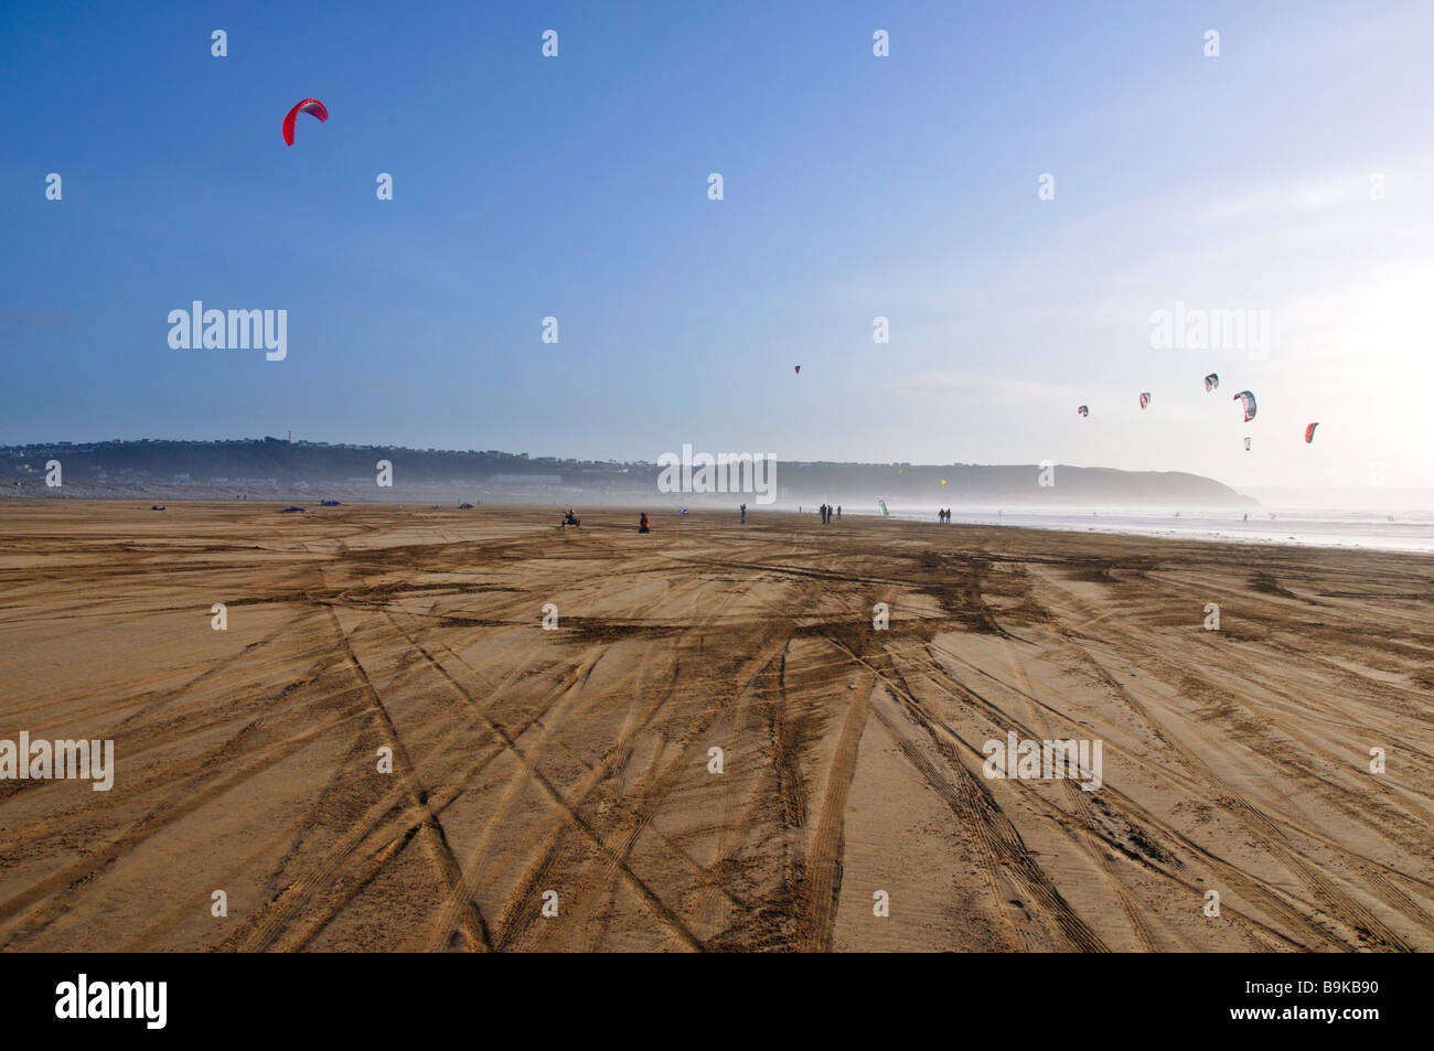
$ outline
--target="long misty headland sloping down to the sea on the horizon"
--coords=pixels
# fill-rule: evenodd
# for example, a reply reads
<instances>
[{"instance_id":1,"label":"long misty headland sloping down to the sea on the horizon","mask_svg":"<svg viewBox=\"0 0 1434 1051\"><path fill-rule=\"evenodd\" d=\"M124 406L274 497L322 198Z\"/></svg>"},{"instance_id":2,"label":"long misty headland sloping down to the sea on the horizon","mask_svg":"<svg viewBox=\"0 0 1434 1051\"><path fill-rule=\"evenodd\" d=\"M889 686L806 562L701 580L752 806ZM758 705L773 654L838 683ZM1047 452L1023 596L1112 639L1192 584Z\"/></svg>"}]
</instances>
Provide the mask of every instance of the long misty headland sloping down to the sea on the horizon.
<instances>
[{"instance_id":1,"label":"long misty headland sloping down to the sea on the horizon","mask_svg":"<svg viewBox=\"0 0 1434 1051\"><path fill-rule=\"evenodd\" d=\"M59 462L59 488L46 486ZM391 486L379 485L380 462ZM757 505L751 493L660 493L655 463L529 457L499 450L403 449L284 439L89 442L0 446L0 495L166 499L452 499L492 503ZM1057 465L911 465L779 460L782 505L1256 506L1199 475ZM945 483L942 483L945 479Z\"/></svg>"}]
</instances>

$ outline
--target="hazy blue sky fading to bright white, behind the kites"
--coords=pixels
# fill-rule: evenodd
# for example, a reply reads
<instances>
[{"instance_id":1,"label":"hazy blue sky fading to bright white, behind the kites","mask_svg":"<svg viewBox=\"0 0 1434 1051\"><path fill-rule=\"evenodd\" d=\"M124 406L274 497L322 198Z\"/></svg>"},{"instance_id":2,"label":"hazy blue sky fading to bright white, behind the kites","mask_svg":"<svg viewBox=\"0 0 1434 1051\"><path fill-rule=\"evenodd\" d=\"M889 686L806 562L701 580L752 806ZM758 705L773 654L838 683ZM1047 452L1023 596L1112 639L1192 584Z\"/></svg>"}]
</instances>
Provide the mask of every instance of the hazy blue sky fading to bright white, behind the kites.
<instances>
[{"instance_id":1,"label":"hazy blue sky fading to bright white, behind the kites","mask_svg":"<svg viewBox=\"0 0 1434 1051\"><path fill-rule=\"evenodd\" d=\"M0 443L1434 485L1427 1L32 7ZM287 310L287 360L172 350L192 300ZM1268 354L1153 348L1177 301L1268 311Z\"/></svg>"}]
</instances>

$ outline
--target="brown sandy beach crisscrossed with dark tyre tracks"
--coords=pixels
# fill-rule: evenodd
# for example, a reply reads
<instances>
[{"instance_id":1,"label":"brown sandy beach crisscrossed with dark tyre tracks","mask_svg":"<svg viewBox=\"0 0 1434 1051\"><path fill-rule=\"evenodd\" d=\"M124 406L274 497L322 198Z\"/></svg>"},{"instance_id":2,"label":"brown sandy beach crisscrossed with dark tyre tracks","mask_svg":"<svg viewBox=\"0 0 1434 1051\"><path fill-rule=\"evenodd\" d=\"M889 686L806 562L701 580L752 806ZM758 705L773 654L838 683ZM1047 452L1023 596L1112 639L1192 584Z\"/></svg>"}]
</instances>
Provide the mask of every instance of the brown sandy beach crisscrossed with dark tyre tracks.
<instances>
[{"instance_id":1,"label":"brown sandy beach crisscrossed with dark tyre tracks","mask_svg":"<svg viewBox=\"0 0 1434 1051\"><path fill-rule=\"evenodd\" d=\"M1434 558L278 506L0 505L0 949L1434 949Z\"/></svg>"}]
</instances>

